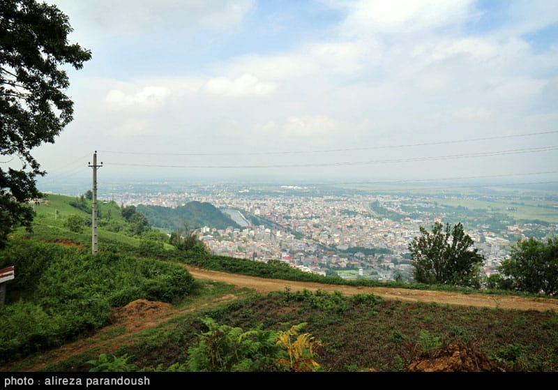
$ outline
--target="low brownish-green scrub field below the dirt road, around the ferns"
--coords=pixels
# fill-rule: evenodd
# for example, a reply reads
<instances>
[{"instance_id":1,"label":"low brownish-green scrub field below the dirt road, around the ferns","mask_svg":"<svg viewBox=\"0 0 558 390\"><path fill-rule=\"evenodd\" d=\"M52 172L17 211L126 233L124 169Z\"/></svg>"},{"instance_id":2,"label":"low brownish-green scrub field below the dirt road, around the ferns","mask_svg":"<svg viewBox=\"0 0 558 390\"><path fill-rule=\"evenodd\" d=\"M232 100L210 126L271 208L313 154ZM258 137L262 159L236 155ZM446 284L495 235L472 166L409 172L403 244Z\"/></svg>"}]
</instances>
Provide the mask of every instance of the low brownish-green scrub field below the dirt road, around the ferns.
<instances>
[{"instance_id":1,"label":"low brownish-green scrub field below the dirt road, around the ferns","mask_svg":"<svg viewBox=\"0 0 558 390\"><path fill-rule=\"evenodd\" d=\"M123 346L115 355L127 354L142 368L190 363L195 359L190 346L210 330L204 323L208 317L243 331L287 331L305 324L302 331L320 343L312 357L324 371L403 371L423 352L449 343L477 348L505 370L558 370L556 313L515 313L308 291L276 292L203 310L177 319L172 329L146 332L142 340Z\"/></svg>"}]
</instances>

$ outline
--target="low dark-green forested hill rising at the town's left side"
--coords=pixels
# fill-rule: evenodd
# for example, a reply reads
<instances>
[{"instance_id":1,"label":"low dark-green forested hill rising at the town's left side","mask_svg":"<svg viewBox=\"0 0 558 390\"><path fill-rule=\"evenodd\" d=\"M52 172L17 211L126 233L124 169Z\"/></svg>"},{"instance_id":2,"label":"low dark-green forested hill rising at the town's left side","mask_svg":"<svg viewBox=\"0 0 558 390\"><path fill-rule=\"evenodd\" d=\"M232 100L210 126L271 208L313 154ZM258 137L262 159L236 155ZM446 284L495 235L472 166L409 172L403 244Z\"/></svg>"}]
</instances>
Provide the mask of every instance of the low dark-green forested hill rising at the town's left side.
<instances>
[{"instance_id":1,"label":"low dark-green forested hill rising at the town's left side","mask_svg":"<svg viewBox=\"0 0 558 390\"><path fill-rule=\"evenodd\" d=\"M225 229L229 226L240 227L227 214L208 202L188 202L174 209L140 204L137 206L137 211L146 216L151 226L165 230L174 231L177 227L183 228L185 223L192 229L204 226L216 229Z\"/></svg>"}]
</instances>

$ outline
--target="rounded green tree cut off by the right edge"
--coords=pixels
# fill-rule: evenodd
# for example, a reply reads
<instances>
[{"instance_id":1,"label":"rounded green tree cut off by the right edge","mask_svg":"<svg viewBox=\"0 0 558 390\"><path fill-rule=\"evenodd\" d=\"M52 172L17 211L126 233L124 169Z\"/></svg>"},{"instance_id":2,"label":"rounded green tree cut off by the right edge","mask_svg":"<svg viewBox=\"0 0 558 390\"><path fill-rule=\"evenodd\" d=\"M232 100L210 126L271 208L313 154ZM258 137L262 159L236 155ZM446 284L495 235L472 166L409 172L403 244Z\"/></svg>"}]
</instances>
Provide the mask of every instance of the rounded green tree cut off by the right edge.
<instances>
[{"instance_id":1,"label":"rounded green tree cut off by the right edge","mask_svg":"<svg viewBox=\"0 0 558 390\"><path fill-rule=\"evenodd\" d=\"M508 287L526 292L558 293L558 239L547 243L530 237L512 247L499 272ZM507 278L507 279L506 279Z\"/></svg>"}]
</instances>

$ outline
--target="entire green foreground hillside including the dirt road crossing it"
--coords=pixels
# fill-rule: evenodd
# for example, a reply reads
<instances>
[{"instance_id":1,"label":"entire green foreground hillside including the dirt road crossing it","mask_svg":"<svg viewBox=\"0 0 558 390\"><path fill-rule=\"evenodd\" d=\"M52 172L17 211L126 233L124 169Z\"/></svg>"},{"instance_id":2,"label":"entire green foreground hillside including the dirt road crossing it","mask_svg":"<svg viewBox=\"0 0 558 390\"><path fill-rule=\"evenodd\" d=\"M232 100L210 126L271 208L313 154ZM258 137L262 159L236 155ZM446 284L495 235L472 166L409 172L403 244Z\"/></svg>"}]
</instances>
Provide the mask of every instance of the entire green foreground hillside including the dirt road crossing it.
<instances>
[{"instance_id":1,"label":"entire green foreground hillside including the dirt road crossing it","mask_svg":"<svg viewBox=\"0 0 558 390\"><path fill-rule=\"evenodd\" d=\"M200 319L209 316L219 324L245 331L257 327L278 330L304 323L305 331L323 342L317 361L326 371L405 371L423 352L433 354L448 340L460 340L478 347L506 370L558 372L556 299L464 294L447 291L448 286L445 292L436 292L283 280L283 276L308 275L289 274L294 270L285 264L163 246L157 250L154 241L131 237L125 227L108 232L110 222L116 222L116 216L109 215L116 213L117 207L104 214L99 227L100 253L93 257L86 247L91 232L71 232L64 226L64 218L71 214L87 215L81 204L73 207L64 203L70 201L74 200L52 197L50 204L37 206L36 233L15 232L13 256L0 256L1 264L15 264L19 270L8 290L15 290L17 283L22 290L17 297L27 299L19 303L13 297L0 313L0 320L10 315L10 329L20 334L24 324L35 329L28 332L33 336L29 350L17 351L18 357L25 358L10 359L0 370L87 371L91 368L88 361L101 353L131 357L129 363L135 369L171 368L187 361L190 347L206 330ZM54 213L53 207L61 212ZM73 246L70 251L44 241L84 245L82 249ZM25 253L27 247L34 251ZM199 268L206 265L229 272L246 273L249 268L253 274L274 279ZM175 297L169 289L186 280L186 271L195 280L193 288ZM340 282L325 277L319 280ZM41 294L35 296L36 292ZM544 306L546 303L550 306ZM93 304L102 317L77 318L84 314L90 317ZM61 305L68 306L64 313L56 311ZM82 331L74 331L80 324ZM54 331L59 330L67 336L56 336ZM50 345L39 345L37 340ZM10 347L13 340L3 342Z\"/></svg>"}]
</instances>

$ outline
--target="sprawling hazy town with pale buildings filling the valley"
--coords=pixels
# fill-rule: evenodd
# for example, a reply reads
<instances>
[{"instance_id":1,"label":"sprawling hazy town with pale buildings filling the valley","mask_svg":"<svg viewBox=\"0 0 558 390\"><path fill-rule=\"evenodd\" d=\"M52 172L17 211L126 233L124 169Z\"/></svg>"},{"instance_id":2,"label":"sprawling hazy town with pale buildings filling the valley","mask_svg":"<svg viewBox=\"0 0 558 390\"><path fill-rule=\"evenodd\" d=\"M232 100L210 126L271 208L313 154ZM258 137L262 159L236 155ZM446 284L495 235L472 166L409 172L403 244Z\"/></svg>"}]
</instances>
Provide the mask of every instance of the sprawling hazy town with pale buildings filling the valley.
<instances>
[{"instance_id":1,"label":"sprawling hazy town with pale buildings filling the valley","mask_svg":"<svg viewBox=\"0 0 558 390\"><path fill-rule=\"evenodd\" d=\"M236 222L195 227L211 253L345 279L412 280L409 243L436 222L462 223L486 276L518 240L558 236L555 190L140 182L100 186L98 200L170 208L209 202Z\"/></svg>"}]
</instances>

